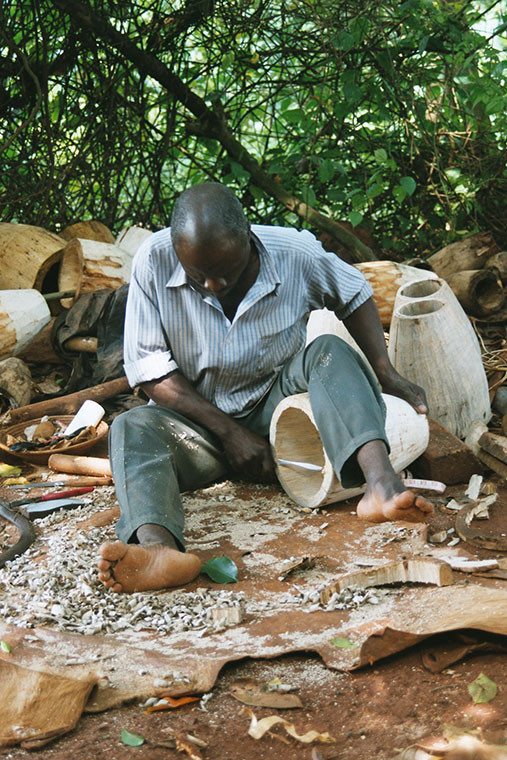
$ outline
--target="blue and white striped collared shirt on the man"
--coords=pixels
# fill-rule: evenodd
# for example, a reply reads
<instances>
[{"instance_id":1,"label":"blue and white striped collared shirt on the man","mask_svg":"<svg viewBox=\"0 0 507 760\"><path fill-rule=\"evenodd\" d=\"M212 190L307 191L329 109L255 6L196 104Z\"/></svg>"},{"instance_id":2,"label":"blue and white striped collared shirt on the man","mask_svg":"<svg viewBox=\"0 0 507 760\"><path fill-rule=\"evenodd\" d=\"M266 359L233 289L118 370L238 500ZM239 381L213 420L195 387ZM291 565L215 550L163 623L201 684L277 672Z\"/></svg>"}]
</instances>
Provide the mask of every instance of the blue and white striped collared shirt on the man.
<instances>
[{"instance_id":1,"label":"blue and white striped collared shirt on the man","mask_svg":"<svg viewBox=\"0 0 507 760\"><path fill-rule=\"evenodd\" d=\"M307 230L253 225L252 232L259 273L232 322L216 296L189 282L170 228L143 243L125 320L131 386L178 369L205 399L242 416L303 348L311 311L326 306L345 319L372 295L361 272L325 251Z\"/></svg>"}]
</instances>

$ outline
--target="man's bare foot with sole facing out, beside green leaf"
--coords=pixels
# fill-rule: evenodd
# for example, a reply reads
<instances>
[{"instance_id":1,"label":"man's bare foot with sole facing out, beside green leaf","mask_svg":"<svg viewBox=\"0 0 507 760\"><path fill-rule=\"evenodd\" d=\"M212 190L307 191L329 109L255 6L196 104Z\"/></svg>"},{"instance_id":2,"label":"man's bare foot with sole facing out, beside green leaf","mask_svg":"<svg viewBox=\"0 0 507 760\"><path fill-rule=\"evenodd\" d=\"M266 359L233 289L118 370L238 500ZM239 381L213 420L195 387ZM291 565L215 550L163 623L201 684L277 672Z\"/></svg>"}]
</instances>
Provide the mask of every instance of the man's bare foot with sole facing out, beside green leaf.
<instances>
[{"instance_id":1,"label":"man's bare foot with sole facing out, beside green leaf","mask_svg":"<svg viewBox=\"0 0 507 760\"><path fill-rule=\"evenodd\" d=\"M100 547L99 578L111 591L155 591L189 583L201 569L195 554L164 544L106 542Z\"/></svg>"}]
</instances>

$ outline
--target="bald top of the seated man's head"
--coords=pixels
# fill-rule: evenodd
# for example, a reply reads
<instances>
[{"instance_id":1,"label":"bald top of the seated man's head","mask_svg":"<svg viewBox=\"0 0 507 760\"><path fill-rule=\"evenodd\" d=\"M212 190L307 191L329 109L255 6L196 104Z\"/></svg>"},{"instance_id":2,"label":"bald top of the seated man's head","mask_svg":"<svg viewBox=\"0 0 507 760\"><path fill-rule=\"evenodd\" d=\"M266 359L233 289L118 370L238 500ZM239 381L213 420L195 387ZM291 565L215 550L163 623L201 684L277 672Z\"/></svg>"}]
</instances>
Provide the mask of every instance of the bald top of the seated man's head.
<instances>
[{"instance_id":1,"label":"bald top of the seated man's head","mask_svg":"<svg viewBox=\"0 0 507 760\"><path fill-rule=\"evenodd\" d=\"M249 231L241 203L232 190L219 182L194 185L174 204L171 238L176 252L181 240L197 248L223 239L244 245Z\"/></svg>"}]
</instances>

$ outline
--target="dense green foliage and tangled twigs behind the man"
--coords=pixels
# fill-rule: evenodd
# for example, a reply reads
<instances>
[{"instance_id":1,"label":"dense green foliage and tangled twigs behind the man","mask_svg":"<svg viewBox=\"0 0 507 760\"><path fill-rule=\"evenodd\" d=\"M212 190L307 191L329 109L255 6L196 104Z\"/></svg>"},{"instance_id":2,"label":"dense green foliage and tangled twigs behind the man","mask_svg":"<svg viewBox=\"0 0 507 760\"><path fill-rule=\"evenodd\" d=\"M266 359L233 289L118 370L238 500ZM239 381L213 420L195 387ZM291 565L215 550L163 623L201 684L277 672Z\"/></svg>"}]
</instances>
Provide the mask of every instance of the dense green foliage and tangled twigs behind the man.
<instances>
[{"instance_id":1,"label":"dense green foliage and tangled twigs behind the man","mask_svg":"<svg viewBox=\"0 0 507 760\"><path fill-rule=\"evenodd\" d=\"M507 62L499 33L482 31L497 4L89 4L203 98L244 154L226 152L173 91L82 28L72 0L68 13L19 0L0 36L4 220L156 228L181 190L217 179L252 221L293 224L252 179L248 154L398 257L477 228L505 235Z\"/></svg>"}]
</instances>

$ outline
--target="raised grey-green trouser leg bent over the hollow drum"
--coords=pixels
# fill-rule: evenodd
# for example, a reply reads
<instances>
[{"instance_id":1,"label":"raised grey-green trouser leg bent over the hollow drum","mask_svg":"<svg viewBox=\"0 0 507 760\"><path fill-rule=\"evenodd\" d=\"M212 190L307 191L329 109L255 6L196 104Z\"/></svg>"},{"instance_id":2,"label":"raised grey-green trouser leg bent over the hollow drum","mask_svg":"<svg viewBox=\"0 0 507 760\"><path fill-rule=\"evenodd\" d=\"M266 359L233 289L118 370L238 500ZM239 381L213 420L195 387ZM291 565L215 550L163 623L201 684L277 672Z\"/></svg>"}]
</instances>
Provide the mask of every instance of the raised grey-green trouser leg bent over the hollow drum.
<instances>
[{"instance_id":1,"label":"raised grey-green trouser leg bent over the hollow drum","mask_svg":"<svg viewBox=\"0 0 507 760\"><path fill-rule=\"evenodd\" d=\"M368 441L382 440L385 404L361 356L335 335L321 335L290 359L265 399L248 417L239 419L260 435L269 434L277 404L287 396L308 392L322 444L345 488L364 483L355 452Z\"/></svg>"}]
</instances>

